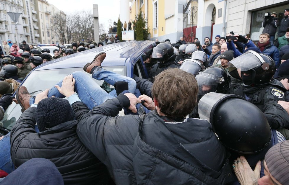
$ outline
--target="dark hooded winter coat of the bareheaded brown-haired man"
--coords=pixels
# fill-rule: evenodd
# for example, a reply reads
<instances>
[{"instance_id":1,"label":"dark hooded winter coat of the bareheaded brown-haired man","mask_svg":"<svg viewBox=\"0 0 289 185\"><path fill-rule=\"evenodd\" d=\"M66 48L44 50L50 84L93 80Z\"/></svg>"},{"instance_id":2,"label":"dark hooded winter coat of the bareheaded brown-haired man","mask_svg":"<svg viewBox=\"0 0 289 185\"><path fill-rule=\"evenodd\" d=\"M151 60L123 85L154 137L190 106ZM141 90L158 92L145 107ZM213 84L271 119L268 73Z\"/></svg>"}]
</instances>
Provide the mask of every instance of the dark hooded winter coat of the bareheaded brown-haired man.
<instances>
[{"instance_id":1,"label":"dark hooded winter coat of the bareheaded brown-haired man","mask_svg":"<svg viewBox=\"0 0 289 185\"><path fill-rule=\"evenodd\" d=\"M129 105L129 102L126 102L128 99L124 96L121 94L117 98L109 99L91 111L82 102L72 104L79 120L77 134L80 140L107 166L116 184L200 184L201 182L223 184L225 177L223 169L228 169L227 166L220 169L226 163L225 150L207 121L188 119L189 121L184 124L173 122L178 126L183 125L179 126L180 130L174 130L176 137L179 132L186 132L188 129L191 131L186 132L184 138L187 140L184 145L176 142L182 141L181 137L177 137L173 143L167 140L165 132L170 132L169 130L158 132L157 135L150 131L146 132L145 138L157 137L156 144L165 143L165 146L176 151L175 155L167 154L166 151L156 152L155 148L145 143L139 144L141 142L138 138L139 116L116 116L123 106ZM155 111L146 115L154 119L145 118L145 123L164 125L164 120ZM173 130L176 124L171 124L170 129ZM194 137L194 140L191 140L191 137ZM176 145L177 148L173 148ZM181 146L193 154L198 153L199 159ZM213 166L202 162L205 160L206 164L211 162L210 165Z\"/></svg>"}]
</instances>

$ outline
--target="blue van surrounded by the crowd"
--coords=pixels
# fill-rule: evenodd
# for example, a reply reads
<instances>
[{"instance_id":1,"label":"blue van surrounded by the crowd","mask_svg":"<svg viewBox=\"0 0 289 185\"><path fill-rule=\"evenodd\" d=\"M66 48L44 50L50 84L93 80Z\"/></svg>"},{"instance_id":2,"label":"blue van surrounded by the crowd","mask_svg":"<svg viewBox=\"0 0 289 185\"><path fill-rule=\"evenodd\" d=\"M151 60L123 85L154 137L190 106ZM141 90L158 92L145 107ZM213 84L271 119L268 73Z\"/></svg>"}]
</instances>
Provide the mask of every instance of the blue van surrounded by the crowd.
<instances>
[{"instance_id":1,"label":"blue van surrounded by the crowd","mask_svg":"<svg viewBox=\"0 0 289 185\"><path fill-rule=\"evenodd\" d=\"M31 95L36 96L45 89L51 89L64 76L74 71L86 73L83 71L83 66L92 62L95 55L100 52L106 53L106 58L101 64L104 69L128 77L133 77L136 74L140 78L148 78L142 55L154 46L154 41L120 42L61 57L35 68L27 75L21 85L25 86ZM91 76L89 73L86 74ZM98 85L103 84L103 81L93 80ZM13 102L7 108L4 118L0 122L0 137L10 132L21 114L20 105Z\"/></svg>"}]
</instances>

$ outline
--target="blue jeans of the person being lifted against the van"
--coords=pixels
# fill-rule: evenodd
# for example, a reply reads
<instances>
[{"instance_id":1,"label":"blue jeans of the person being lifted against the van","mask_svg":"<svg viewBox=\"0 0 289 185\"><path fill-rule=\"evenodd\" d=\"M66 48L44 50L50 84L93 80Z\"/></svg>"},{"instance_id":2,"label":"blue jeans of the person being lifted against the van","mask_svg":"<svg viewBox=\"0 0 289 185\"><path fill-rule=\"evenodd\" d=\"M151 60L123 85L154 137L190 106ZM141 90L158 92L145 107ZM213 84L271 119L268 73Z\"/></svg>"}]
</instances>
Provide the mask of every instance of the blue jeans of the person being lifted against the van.
<instances>
[{"instance_id":1,"label":"blue jeans of the person being lifted against the van","mask_svg":"<svg viewBox=\"0 0 289 185\"><path fill-rule=\"evenodd\" d=\"M86 104L89 109L92 109L93 107L102 104L107 99L112 99L116 96L115 89L108 94L83 72L76 71L71 74L75 79L74 91L77 93L79 99L81 99L81 101ZM96 80L104 80L111 85L114 85L114 83L117 81L126 81L129 84L129 92L132 94L134 93L137 86L137 83L134 81L134 79L122 76L111 71L107 71L103 68L96 68L92 73L92 78ZM61 87L62 81L60 81L56 85ZM58 98L65 97L56 89L56 87L53 87L48 91L48 97L51 96L55 96ZM30 98L30 105L34 103L34 99L34 97Z\"/></svg>"}]
</instances>

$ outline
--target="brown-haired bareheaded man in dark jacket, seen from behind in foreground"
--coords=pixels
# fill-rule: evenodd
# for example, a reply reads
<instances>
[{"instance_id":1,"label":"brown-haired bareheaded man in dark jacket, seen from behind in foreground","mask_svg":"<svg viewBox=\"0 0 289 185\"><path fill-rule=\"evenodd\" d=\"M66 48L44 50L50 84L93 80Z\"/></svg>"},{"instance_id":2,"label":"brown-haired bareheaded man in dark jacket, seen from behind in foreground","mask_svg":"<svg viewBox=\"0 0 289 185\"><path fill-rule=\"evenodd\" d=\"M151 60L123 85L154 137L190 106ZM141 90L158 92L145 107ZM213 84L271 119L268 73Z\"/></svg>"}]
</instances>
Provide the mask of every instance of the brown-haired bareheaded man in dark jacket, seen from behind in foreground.
<instances>
[{"instance_id":1,"label":"brown-haired bareheaded man in dark jacket, seen from behind in foreground","mask_svg":"<svg viewBox=\"0 0 289 185\"><path fill-rule=\"evenodd\" d=\"M205 120L185 119L197 104L192 74L165 70L155 78L154 100L126 93L92 110L78 98L73 101L72 80L63 82L59 91L68 97L79 120L79 139L107 166L116 184L225 183L225 174L230 173L225 172L226 150L212 126ZM140 99L153 111L117 116L123 107L135 112Z\"/></svg>"}]
</instances>

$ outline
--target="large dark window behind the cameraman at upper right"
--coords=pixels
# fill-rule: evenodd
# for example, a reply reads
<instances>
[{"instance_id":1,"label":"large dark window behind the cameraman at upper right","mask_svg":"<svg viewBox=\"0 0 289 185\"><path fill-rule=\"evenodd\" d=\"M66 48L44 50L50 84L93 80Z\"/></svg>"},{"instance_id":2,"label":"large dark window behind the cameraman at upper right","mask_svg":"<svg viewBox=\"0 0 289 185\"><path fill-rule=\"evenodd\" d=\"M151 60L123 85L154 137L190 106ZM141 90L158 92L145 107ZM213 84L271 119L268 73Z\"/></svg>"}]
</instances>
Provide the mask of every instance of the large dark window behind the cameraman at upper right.
<instances>
[{"instance_id":1,"label":"large dark window behind the cameraman at upper right","mask_svg":"<svg viewBox=\"0 0 289 185\"><path fill-rule=\"evenodd\" d=\"M279 22L281 22L282 18L284 18L284 5L252 12L251 28L250 28L251 40L259 41L259 35L264 30L264 27L262 27L262 22L264 21L265 13L267 12L269 13L276 12L277 19L279 19ZM279 30L279 27L277 27L277 30ZM277 32L275 35L275 39L277 39Z\"/></svg>"}]
</instances>

